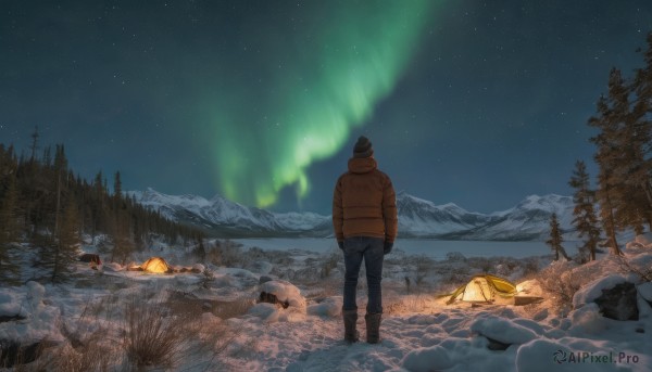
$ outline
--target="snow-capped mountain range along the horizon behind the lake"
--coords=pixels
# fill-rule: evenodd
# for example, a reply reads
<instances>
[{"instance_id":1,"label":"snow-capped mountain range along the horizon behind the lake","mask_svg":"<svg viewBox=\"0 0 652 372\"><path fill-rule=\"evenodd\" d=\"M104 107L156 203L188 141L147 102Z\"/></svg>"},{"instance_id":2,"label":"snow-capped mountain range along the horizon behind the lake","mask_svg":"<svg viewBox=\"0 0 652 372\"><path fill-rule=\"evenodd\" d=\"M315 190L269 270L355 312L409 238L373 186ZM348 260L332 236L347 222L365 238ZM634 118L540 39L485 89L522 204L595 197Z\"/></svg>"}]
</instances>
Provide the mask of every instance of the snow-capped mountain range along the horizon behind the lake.
<instances>
[{"instance_id":1,"label":"snow-capped mountain range along the horizon behind the lake","mask_svg":"<svg viewBox=\"0 0 652 372\"><path fill-rule=\"evenodd\" d=\"M208 234L244 236L333 236L331 217L315 213L274 213L230 202L220 195L166 195L155 190L127 192L136 202ZM449 203L435 205L405 192L397 194L399 236L440 240L544 241L555 213L562 231L573 233L573 198L530 195L513 208L492 214L467 211Z\"/></svg>"}]
</instances>

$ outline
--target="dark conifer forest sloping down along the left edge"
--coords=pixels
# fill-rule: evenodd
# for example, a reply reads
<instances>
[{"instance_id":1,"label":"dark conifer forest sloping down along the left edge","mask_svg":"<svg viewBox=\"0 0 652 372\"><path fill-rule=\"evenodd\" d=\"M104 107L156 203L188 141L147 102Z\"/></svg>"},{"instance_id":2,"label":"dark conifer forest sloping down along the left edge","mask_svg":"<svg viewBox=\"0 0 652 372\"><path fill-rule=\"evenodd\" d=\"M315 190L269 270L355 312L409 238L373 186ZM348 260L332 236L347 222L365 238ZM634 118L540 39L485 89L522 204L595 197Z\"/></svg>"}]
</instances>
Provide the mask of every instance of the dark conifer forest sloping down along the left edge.
<instances>
[{"instance_id":1,"label":"dark conifer forest sloping down along the left edge","mask_svg":"<svg viewBox=\"0 0 652 372\"><path fill-rule=\"evenodd\" d=\"M110 260L125 264L131 253L152 244L201 243L203 233L146 208L122 192L120 171L113 192L99 171L92 181L75 176L63 144L37 156L38 131L30 155L17 156L13 145L0 144L0 282L18 277L20 260L32 249L39 278L65 280L84 234L103 236Z\"/></svg>"}]
</instances>

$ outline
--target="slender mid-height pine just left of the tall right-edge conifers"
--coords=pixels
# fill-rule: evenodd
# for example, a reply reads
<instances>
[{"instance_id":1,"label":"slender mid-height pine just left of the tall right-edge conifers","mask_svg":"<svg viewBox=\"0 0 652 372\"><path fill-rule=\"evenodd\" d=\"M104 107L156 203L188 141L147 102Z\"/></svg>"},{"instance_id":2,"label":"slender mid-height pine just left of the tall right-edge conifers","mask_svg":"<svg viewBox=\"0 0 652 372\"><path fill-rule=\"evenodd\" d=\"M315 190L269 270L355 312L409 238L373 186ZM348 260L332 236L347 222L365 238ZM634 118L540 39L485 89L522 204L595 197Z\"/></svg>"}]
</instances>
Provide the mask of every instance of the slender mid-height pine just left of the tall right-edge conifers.
<instances>
[{"instance_id":1,"label":"slender mid-height pine just left of the tall right-edge conifers","mask_svg":"<svg viewBox=\"0 0 652 372\"><path fill-rule=\"evenodd\" d=\"M585 238L584 245L579 248L580 252L589 254L589 260L595 260L595 251L600 241L600 228L598 226L598 217L595 216L595 196L590 189L589 175L584 162L575 163L575 170L568 184L575 189L573 202L573 225L577 229L580 238Z\"/></svg>"}]
</instances>

